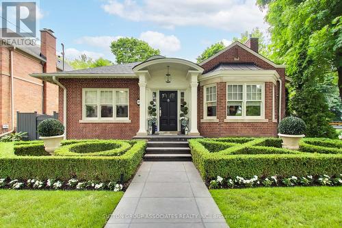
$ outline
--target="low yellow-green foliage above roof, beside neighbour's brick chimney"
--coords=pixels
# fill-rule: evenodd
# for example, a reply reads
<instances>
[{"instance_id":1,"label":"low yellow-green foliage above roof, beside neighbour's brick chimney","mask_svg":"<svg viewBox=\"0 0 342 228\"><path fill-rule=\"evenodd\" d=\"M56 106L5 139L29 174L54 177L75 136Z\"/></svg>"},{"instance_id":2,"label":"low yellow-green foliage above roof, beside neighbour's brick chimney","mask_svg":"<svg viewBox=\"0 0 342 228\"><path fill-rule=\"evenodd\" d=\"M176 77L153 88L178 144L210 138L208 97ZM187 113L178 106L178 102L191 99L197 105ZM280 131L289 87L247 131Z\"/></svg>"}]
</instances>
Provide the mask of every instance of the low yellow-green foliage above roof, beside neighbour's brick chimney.
<instances>
[{"instance_id":1,"label":"low yellow-green foliage above roof, beside neighbour's brick chimney","mask_svg":"<svg viewBox=\"0 0 342 228\"><path fill-rule=\"evenodd\" d=\"M104 58L98 58L97 60L92 60L86 54L82 54L79 56L79 59L69 60L68 64L73 66L75 70L78 69L86 69L93 68L98 66L110 66L113 63L109 60L105 60Z\"/></svg>"}]
</instances>

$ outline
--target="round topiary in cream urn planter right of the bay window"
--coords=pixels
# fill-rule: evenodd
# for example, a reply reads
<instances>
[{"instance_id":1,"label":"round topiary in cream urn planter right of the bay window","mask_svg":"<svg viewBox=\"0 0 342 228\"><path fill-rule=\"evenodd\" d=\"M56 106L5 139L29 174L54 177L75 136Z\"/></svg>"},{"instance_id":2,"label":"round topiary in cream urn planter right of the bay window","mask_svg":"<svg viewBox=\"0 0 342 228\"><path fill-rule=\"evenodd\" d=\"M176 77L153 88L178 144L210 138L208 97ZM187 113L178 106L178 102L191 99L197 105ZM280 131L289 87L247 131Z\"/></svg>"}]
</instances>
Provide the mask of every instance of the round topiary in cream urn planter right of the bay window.
<instances>
[{"instance_id":1,"label":"round topiary in cream urn planter right of the bay window","mask_svg":"<svg viewBox=\"0 0 342 228\"><path fill-rule=\"evenodd\" d=\"M300 139L304 138L306 125L301 118L288 116L278 126L278 136L282 138L282 147L298 150Z\"/></svg>"}]
</instances>

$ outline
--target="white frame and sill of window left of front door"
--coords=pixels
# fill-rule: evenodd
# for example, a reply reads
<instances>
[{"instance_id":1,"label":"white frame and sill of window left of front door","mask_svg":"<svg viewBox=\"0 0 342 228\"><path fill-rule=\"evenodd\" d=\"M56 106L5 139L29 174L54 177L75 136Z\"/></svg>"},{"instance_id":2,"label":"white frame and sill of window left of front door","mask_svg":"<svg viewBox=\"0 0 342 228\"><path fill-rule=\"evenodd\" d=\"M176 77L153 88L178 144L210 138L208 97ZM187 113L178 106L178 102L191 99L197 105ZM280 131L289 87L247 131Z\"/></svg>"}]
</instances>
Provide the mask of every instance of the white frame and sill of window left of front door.
<instances>
[{"instance_id":1,"label":"white frame and sill of window left of front door","mask_svg":"<svg viewBox=\"0 0 342 228\"><path fill-rule=\"evenodd\" d=\"M97 92L97 117L86 117L86 91ZM101 91L112 91L113 117L101 118ZM127 91L127 117L116 117L116 91ZM129 120L129 88L82 88L82 119L79 123L131 123Z\"/></svg>"}]
</instances>

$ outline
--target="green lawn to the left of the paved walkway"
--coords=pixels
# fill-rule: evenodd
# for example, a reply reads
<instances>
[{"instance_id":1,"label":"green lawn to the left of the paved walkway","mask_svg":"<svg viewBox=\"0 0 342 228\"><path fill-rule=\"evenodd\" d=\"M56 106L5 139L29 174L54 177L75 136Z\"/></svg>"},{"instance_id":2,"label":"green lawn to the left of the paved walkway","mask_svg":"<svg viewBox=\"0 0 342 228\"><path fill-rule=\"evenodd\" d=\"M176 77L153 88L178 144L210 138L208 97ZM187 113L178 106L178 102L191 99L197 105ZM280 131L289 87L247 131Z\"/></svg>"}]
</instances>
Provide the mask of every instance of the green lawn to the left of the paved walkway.
<instances>
[{"instance_id":1,"label":"green lawn to the left of the paved walkway","mask_svg":"<svg viewBox=\"0 0 342 228\"><path fill-rule=\"evenodd\" d=\"M0 190L0 227L103 227L122 194Z\"/></svg>"}]
</instances>

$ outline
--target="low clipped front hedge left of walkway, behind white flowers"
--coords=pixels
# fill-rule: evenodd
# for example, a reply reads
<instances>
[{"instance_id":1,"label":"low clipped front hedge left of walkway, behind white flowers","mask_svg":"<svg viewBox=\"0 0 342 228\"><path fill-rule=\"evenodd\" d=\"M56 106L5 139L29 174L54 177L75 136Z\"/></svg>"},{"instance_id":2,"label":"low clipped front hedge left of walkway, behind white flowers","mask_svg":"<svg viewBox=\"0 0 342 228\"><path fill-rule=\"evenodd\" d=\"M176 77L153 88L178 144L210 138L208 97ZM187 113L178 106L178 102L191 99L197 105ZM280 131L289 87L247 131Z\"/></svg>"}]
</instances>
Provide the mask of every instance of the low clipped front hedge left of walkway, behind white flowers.
<instances>
[{"instance_id":1,"label":"low clipped front hedge left of walkway, behind white flowers","mask_svg":"<svg viewBox=\"0 0 342 228\"><path fill-rule=\"evenodd\" d=\"M131 149L119 156L0 156L0 178L77 178L124 183L135 173L146 147L142 140L129 144Z\"/></svg>"}]
</instances>

